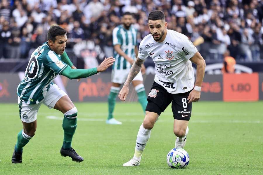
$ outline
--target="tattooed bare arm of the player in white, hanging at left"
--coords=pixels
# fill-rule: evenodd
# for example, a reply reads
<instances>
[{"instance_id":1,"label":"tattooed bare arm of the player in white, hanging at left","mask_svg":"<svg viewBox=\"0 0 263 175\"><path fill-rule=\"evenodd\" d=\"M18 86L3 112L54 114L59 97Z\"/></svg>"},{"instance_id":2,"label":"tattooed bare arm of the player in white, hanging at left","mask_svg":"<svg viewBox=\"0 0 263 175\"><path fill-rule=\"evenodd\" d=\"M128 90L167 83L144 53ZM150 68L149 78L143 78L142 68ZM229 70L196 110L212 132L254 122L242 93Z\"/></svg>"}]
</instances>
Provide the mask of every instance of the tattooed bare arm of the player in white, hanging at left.
<instances>
[{"instance_id":1,"label":"tattooed bare arm of the player in white, hanging at left","mask_svg":"<svg viewBox=\"0 0 263 175\"><path fill-rule=\"evenodd\" d=\"M123 84L123 87L120 90L120 93L118 95L118 97L119 97L119 99L121 101L125 101L126 100L126 97L127 97L128 93L129 93L129 84L131 83L133 78L136 77L136 75L141 70L141 67L143 66L143 62L144 62L144 60L141 60L141 59L139 59L137 57L135 62L134 62L134 64L132 64L131 70L129 72L129 75L128 75L125 83Z\"/></svg>"}]
</instances>

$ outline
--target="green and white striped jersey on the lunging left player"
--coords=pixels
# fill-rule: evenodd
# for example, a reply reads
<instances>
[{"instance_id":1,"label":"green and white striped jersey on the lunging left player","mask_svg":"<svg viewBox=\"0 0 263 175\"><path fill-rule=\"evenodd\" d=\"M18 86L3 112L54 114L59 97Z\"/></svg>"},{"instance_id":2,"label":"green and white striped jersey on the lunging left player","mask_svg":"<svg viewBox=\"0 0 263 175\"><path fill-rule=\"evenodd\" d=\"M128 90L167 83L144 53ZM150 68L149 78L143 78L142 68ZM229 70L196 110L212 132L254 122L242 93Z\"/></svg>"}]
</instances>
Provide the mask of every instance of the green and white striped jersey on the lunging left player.
<instances>
[{"instance_id":1,"label":"green and white striped jersey on the lunging left player","mask_svg":"<svg viewBox=\"0 0 263 175\"><path fill-rule=\"evenodd\" d=\"M44 99L53 79L68 67L61 55L53 52L48 43L39 46L31 55L25 78L17 87L17 95L27 104L38 104Z\"/></svg>"}]
</instances>

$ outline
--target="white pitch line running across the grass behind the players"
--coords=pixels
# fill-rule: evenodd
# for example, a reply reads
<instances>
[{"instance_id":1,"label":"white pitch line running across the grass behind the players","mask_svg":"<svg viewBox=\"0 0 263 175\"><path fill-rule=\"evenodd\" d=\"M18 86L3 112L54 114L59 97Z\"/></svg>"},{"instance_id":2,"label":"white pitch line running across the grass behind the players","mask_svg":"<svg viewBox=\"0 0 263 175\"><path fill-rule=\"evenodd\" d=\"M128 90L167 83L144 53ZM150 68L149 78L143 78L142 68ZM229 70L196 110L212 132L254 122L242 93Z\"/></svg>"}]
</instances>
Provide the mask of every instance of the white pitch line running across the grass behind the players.
<instances>
[{"instance_id":1,"label":"white pitch line running across the grass behind the players","mask_svg":"<svg viewBox=\"0 0 263 175\"><path fill-rule=\"evenodd\" d=\"M47 119L53 120L63 120L63 117L57 116L46 116ZM134 120L134 119L118 119L122 122L142 122L141 120ZM103 118L78 118L78 121L93 121L93 122L105 122L106 120ZM173 122L173 120L164 120L159 119L158 122ZM218 121L218 120L190 120L191 123L262 123L261 121L245 121L245 120L229 120L229 121Z\"/></svg>"}]
</instances>

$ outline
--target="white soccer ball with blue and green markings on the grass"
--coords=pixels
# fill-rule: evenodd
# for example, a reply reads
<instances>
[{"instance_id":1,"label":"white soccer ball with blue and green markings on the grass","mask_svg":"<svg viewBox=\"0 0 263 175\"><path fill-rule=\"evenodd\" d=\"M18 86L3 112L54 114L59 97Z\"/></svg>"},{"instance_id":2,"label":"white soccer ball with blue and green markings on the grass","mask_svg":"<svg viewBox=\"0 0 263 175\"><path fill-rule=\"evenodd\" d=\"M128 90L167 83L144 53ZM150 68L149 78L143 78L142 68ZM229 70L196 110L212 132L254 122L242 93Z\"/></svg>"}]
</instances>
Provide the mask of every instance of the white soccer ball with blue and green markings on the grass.
<instances>
[{"instance_id":1,"label":"white soccer ball with blue and green markings on the grass","mask_svg":"<svg viewBox=\"0 0 263 175\"><path fill-rule=\"evenodd\" d=\"M182 148L173 148L167 154L167 163L171 168L185 168L189 163L189 155Z\"/></svg>"}]
</instances>

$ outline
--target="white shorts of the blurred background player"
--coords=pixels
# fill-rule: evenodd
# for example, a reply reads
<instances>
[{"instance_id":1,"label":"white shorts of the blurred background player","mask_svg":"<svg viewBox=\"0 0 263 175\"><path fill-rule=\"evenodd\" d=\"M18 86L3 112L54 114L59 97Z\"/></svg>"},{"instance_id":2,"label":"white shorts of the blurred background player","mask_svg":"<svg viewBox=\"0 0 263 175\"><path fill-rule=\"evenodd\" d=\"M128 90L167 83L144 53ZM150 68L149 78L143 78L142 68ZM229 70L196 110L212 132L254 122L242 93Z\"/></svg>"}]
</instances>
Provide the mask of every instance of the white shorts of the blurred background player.
<instances>
[{"instance_id":1,"label":"white shorts of the blurred background player","mask_svg":"<svg viewBox=\"0 0 263 175\"><path fill-rule=\"evenodd\" d=\"M123 70L112 70L111 71L111 82L113 83L125 83L128 75L129 75L130 69L123 69ZM141 74L141 71L134 77L132 81L143 81L143 77Z\"/></svg>"}]
</instances>

